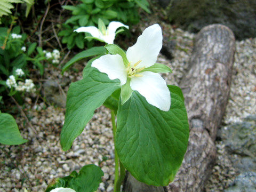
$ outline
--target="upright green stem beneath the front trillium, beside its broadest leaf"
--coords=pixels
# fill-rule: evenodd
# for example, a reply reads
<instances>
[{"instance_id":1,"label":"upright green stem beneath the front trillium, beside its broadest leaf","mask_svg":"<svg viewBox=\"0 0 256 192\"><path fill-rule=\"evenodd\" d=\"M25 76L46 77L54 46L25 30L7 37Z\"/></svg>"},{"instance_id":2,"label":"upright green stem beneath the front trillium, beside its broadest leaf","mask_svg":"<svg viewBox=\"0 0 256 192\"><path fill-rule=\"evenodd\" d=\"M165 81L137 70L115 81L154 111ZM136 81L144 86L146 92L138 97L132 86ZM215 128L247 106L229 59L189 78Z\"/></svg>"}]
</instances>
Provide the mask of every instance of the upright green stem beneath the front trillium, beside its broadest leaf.
<instances>
[{"instance_id":1,"label":"upright green stem beneath the front trillium, beside its broadest leaf","mask_svg":"<svg viewBox=\"0 0 256 192\"><path fill-rule=\"evenodd\" d=\"M115 112L111 110L111 122L113 127L113 135L114 135L114 141L116 136L116 122L115 122ZM119 158L116 152L115 147L115 181L114 181L114 192L121 190L121 182L119 182Z\"/></svg>"}]
</instances>

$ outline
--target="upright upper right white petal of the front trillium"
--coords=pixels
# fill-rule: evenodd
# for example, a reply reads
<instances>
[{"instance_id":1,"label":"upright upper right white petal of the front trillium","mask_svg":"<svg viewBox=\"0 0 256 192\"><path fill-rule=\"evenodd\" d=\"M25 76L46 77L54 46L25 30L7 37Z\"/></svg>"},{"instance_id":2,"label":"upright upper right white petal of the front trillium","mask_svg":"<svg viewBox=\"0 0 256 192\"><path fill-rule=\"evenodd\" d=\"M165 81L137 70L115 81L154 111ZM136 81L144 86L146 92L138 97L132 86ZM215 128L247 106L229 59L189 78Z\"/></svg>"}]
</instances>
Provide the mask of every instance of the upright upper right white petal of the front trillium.
<instances>
[{"instance_id":1,"label":"upright upper right white petal of the front trillium","mask_svg":"<svg viewBox=\"0 0 256 192\"><path fill-rule=\"evenodd\" d=\"M153 66L162 49L163 35L161 27L154 24L143 31L137 42L127 50L127 59L132 64L141 60L138 68Z\"/></svg>"}]
</instances>

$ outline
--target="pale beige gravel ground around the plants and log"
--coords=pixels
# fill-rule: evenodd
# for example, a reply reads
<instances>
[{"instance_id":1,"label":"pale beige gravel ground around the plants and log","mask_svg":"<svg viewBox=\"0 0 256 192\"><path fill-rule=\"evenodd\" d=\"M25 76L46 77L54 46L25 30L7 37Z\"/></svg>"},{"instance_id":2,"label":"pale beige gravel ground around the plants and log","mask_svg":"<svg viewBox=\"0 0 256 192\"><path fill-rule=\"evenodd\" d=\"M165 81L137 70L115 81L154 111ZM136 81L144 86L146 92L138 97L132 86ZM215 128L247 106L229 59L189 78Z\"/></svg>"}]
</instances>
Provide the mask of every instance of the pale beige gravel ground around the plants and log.
<instances>
[{"instance_id":1,"label":"pale beige gravel ground around the plants and log","mask_svg":"<svg viewBox=\"0 0 256 192\"><path fill-rule=\"evenodd\" d=\"M177 41L174 59L168 60L160 55L158 62L173 69L173 74L163 77L168 84L178 85L185 75L188 60L193 47L194 34L180 29L171 29L171 36ZM237 42L236 62L231 86L230 99L224 123L239 121L247 114L255 114L256 104L256 38ZM71 81L82 77L66 74ZM51 78L58 78L59 71L51 74ZM254 82L254 84L253 84ZM63 87L67 90L67 87ZM30 98L26 98L24 109L36 133L31 135L25 119L16 117L21 134L29 142L22 146L0 145L0 191L44 191L47 184L57 177L68 175L73 170L79 170L86 164L99 165L105 173L98 191L113 191L114 182L114 145L110 123L110 111L100 107L95 111L92 120L86 125L83 133L74 141L73 147L63 152L60 147L60 131L64 122L65 109L47 107L39 103L33 107ZM221 191L234 178L226 151L218 143L218 160L214 173L210 178L206 191ZM101 162L107 157L107 161ZM227 173L228 171L228 173Z\"/></svg>"}]
</instances>

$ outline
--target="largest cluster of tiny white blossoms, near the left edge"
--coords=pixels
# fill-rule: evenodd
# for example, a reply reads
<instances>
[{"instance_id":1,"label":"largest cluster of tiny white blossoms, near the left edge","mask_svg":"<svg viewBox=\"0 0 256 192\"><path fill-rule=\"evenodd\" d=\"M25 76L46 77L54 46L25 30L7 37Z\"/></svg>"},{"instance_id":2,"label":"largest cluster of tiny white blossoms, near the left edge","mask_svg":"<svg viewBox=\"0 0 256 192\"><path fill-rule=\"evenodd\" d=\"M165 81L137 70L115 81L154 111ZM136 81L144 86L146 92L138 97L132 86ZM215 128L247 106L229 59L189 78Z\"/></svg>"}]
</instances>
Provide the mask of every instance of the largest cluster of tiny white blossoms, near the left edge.
<instances>
[{"instance_id":1,"label":"largest cluster of tiny white blossoms, near the left edge","mask_svg":"<svg viewBox=\"0 0 256 192\"><path fill-rule=\"evenodd\" d=\"M19 69L19 70L17 69L15 71L15 73L19 76L24 75L24 72L22 71L22 69ZM6 85L9 88L14 87L16 91L26 91L26 92L34 92L35 91L35 84L33 83L33 81L31 79L26 79L25 83L19 81L17 84L16 79L13 75L9 76L9 78L6 80Z\"/></svg>"}]
</instances>

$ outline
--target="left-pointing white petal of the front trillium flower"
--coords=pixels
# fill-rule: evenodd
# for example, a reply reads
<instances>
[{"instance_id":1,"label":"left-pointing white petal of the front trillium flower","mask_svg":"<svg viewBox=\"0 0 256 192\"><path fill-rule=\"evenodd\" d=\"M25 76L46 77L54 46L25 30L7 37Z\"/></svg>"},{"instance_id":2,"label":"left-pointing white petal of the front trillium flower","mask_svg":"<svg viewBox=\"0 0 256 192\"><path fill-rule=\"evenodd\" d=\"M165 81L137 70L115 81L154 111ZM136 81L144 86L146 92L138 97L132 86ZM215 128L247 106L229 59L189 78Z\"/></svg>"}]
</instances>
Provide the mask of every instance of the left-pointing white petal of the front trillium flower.
<instances>
[{"instance_id":1,"label":"left-pointing white petal of the front trillium flower","mask_svg":"<svg viewBox=\"0 0 256 192\"><path fill-rule=\"evenodd\" d=\"M127 73L123 59L120 55L103 55L92 62L92 67L99 69L100 72L106 73L110 79L118 78L121 85L126 83Z\"/></svg>"}]
</instances>

